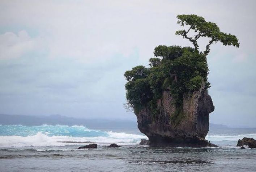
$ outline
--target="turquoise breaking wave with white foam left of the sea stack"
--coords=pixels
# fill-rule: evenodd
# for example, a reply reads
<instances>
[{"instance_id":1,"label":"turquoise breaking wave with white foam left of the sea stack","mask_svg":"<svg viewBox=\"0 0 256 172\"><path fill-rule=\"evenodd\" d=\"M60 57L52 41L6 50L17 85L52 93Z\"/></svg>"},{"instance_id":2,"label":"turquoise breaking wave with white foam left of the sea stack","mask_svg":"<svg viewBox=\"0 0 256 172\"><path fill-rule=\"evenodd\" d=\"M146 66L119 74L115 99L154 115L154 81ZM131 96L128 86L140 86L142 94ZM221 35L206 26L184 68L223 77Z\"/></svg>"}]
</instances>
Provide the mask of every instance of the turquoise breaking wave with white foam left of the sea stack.
<instances>
[{"instance_id":1,"label":"turquoise breaking wave with white foam left of the sea stack","mask_svg":"<svg viewBox=\"0 0 256 172\"><path fill-rule=\"evenodd\" d=\"M81 145L95 142L99 145L117 143L119 145L138 144L145 135L90 130L84 126L0 126L0 147L44 147Z\"/></svg>"}]
</instances>

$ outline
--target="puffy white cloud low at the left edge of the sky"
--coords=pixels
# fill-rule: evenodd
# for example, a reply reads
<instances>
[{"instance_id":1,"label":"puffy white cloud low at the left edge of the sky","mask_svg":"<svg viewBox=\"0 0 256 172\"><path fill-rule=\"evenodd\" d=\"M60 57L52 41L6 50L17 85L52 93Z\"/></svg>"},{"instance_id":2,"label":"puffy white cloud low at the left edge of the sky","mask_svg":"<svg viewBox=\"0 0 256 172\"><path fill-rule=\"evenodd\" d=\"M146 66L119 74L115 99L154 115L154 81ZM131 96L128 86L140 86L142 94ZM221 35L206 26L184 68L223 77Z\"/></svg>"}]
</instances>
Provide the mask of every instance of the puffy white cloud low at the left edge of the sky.
<instances>
[{"instance_id":1,"label":"puffy white cloud low at the left edge of the sky","mask_svg":"<svg viewBox=\"0 0 256 172\"><path fill-rule=\"evenodd\" d=\"M5 32L0 35L0 59L18 58L33 50L35 40L26 31Z\"/></svg>"}]
</instances>

